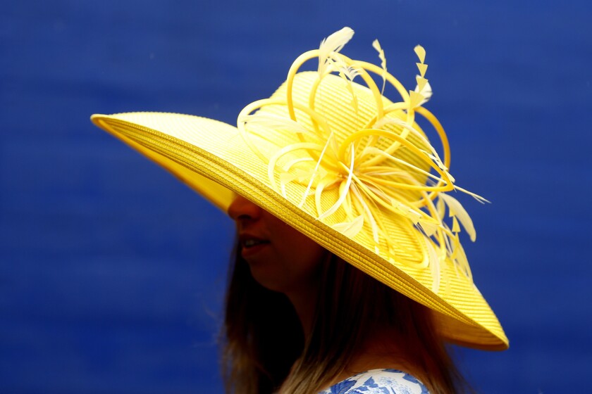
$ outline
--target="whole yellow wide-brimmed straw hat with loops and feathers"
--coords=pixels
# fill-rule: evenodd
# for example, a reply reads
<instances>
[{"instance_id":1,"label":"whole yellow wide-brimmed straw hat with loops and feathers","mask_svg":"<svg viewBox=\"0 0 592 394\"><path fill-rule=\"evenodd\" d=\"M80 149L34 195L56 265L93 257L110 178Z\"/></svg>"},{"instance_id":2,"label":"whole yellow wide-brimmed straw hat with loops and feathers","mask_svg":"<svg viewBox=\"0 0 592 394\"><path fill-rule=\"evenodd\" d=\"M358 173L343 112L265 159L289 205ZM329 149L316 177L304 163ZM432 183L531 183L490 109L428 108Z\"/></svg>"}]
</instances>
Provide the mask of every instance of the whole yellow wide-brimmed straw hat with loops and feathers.
<instances>
[{"instance_id":1,"label":"whole yellow wide-brimmed straw hat with loops and feathers","mask_svg":"<svg viewBox=\"0 0 592 394\"><path fill-rule=\"evenodd\" d=\"M92 115L92 122L156 161L218 208L243 196L354 267L436 311L448 341L503 350L507 338L471 277L459 240L474 241L431 96L425 51L417 87L381 65L347 58L344 27L300 55L271 96L249 104L238 127L174 113ZM299 72L318 58L317 71ZM359 80L362 84L354 82ZM378 82L376 82L378 81ZM392 85L400 99L383 96ZM443 153L417 121L433 127Z\"/></svg>"}]
</instances>

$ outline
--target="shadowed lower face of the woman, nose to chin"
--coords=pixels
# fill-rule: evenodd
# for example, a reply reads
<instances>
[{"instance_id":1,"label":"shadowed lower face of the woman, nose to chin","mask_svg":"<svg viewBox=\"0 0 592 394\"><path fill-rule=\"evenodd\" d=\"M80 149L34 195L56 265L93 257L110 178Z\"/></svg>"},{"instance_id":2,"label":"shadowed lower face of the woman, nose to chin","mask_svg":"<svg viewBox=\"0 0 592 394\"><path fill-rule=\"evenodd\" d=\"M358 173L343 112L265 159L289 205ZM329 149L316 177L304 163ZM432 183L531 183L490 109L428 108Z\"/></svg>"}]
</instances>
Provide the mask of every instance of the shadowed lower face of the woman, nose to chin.
<instances>
[{"instance_id":1,"label":"shadowed lower face of the woman, nose to chin","mask_svg":"<svg viewBox=\"0 0 592 394\"><path fill-rule=\"evenodd\" d=\"M236 223L242 258L261 286L289 294L316 285L325 249L246 198L235 198L228 215Z\"/></svg>"}]
</instances>

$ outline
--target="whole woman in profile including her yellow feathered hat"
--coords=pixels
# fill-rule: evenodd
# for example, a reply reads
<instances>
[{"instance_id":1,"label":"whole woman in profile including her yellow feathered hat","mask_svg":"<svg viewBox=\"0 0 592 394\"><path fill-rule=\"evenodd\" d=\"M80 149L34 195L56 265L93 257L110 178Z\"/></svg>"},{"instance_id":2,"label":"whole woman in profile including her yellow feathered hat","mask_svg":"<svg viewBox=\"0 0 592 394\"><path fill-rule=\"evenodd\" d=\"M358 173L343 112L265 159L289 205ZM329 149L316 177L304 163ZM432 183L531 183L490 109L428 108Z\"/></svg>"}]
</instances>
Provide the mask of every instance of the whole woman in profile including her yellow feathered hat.
<instances>
[{"instance_id":1,"label":"whole woman in profile including her yellow feathered hat","mask_svg":"<svg viewBox=\"0 0 592 394\"><path fill-rule=\"evenodd\" d=\"M474 227L447 192L482 198L455 184L446 134L423 106L426 53L416 47L417 87L407 91L378 41L380 67L340 53L352 35L345 27L299 56L238 127L166 113L92 117L237 224L228 392L453 393L462 379L444 343L507 348L460 243L461 225L471 240ZM312 58L316 72L298 72ZM383 96L387 82L400 101Z\"/></svg>"}]
</instances>

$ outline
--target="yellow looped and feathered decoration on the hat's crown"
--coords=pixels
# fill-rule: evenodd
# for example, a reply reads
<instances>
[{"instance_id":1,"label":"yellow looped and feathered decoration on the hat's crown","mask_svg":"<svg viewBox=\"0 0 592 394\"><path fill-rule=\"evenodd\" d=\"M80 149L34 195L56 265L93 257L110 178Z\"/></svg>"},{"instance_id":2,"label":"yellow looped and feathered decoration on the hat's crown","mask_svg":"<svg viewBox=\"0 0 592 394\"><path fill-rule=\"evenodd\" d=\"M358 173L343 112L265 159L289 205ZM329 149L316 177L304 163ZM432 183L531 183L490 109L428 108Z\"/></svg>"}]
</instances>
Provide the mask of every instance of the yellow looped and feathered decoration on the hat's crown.
<instances>
[{"instance_id":1,"label":"yellow looped and feathered decoration on the hat's crown","mask_svg":"<svg viewBox=\"0 0 592 394\"><path fill-rule=\"evenodd\" d=\"M393 243L393 237L388 234L388 229L381 221L381 211L411 222L417 229L417 236L428 240L429 258L421 261L417 268L428 265L431 267L432 290L438 293L440 260L450 259L458 272L471 279L471 270L459 241L459 222L471 241L476 239L471 217L459 201L445 192L462 191L478 201L486 200L455 186L455 179L448 172L450 150L446 134L437 118L422 106L432 94L425 77L428 68L425 63L425 49L419 45L414 49L419 58L419 75L416 77L416 89L407 92L388 72L386 57L378 40L374 41L373 46L381 59L380 68L364 61L354 61L340 53L353 34L352 29L344 27L324 39L319 49L299 56L288 72L285 100L266 98L249 104L238 116L238 129L245 144L267 163L269 184L274 190L288 198L286 184L293 182L304 186L298 206L302 208L308 198L314 198L316 220L322 221L338 210L343 210L343 221L331 227L350 238L355 238L364 224L367 224L374 240L374 250L379 253L383 248L383 254L390 261L399 261L397 255L404 251L405 246ZM305 106L292 100L292 84L302 64L312 58L319 58L318 79L310 89L308 106ZM343 139L339 139L333 132L331 124L315 105L319 86L333 72L343 80L345 89L350 94L351 113L359 112L357 93L353 89L356 77L362 79L371 90L376 104L376 115L361 127L351 129L350 134ZM378 88L369 72L382 77L382 89ZM384 105L383 91L386 82L397 89L401 101ZM289 116L256 112L266 106L286 106ZM304 117L309 117L309 127L299 122L297 110ZM397 116L388 116L389 114ZM417 127L414 122L416 115L425 117L438 132L444 146L444 160L440 159L436 149ZM273 144L277 140L277 134L282 133L297 136L297 141L287 146L278 146L271 156L261 153L257 144L251 141L251 134L257 134ZM419 144L410 141L407 138L409 134ZM378 144L381 139L383 143ZM385 140L388 143L384 143ZM400 158L398 153L402 150L407 151L414 160ZM288 160L283 166L278 164L281 158L295 152L298 152L297 158ZM324 209L321 205L323 193L331 189L338 189L338 199ZM414 192L412 198L409 198L407 191ZM452 224L445 222L447 208ZM385 246L381 246L381 242Z\"/></svg>"}]
</instances>

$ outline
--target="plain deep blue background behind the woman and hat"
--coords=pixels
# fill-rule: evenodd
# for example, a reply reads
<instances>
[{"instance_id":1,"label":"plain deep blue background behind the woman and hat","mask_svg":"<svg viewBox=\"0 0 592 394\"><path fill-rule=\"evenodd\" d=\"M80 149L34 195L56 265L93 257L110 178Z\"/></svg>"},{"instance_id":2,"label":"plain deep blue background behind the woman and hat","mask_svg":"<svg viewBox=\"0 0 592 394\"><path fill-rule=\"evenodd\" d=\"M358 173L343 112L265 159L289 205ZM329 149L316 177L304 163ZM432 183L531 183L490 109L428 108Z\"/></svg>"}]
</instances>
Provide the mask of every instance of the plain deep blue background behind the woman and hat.
<instances>
[{"instance_id":1,"label":"plain deep blue background behind the woman and hat","mask_svg":"<svg viewBox=\"0 0 592 394\"><path fill-rule=\"evenodd\" d=\"M592 370L589 1L11 1L0 11L0 392L218 393L233 227L92 113L235 123L292 61L344 53L414 87L452 144L476 283L506 352L457 350L482 393L586 392Z\"/></svg>"}]
</instances>

